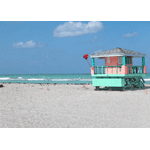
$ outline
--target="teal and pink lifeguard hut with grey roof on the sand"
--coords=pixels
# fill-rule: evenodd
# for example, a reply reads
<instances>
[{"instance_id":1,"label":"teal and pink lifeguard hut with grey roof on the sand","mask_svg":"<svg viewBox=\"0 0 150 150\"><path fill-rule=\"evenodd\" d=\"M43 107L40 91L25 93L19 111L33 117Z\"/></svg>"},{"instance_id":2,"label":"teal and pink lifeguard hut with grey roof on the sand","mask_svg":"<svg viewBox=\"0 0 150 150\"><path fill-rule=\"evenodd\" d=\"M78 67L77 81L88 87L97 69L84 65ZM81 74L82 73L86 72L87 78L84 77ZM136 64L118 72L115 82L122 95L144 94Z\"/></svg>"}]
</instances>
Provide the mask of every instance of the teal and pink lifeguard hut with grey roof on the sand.
<instances>
[{"instance_id":1,"label":"teal and pink lifeguard hut with grey roof on the sand","mask_svg":"<svg viewBox=\"0 0 150 150\"><path fill-rule=\"evenodd\" d=\"M134 89L144 88L146 75L145 54L134 52L122 48L94 53L92 58L92 85L96 90L100 87L106 89ZM133 58L141 57L142 65L133 66ZM105 59L105 66L95 66L95 59Z\"/></svg>"}]
</instances>

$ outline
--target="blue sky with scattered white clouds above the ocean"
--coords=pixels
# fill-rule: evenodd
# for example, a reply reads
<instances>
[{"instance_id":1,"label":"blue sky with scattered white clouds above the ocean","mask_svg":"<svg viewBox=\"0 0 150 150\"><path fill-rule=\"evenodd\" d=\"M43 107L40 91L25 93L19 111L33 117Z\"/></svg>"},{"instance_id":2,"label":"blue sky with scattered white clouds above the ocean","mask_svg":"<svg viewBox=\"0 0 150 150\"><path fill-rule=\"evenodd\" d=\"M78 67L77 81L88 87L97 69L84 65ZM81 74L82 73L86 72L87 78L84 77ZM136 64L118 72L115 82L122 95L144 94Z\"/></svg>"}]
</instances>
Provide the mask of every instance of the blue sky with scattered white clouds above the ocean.
<instances>
[{"instance_id":1,"label":"blue sky with scattered white clouds above the ocean","mask_svg":"<svg viewBox=\"0 0 150 150\"><path fill-rule=\"evenodd\" d=\"M0 21L0 74L90 73L83 55L116 47L146 54L150 73L150 21Z\"/></svg>"}]
</instances>

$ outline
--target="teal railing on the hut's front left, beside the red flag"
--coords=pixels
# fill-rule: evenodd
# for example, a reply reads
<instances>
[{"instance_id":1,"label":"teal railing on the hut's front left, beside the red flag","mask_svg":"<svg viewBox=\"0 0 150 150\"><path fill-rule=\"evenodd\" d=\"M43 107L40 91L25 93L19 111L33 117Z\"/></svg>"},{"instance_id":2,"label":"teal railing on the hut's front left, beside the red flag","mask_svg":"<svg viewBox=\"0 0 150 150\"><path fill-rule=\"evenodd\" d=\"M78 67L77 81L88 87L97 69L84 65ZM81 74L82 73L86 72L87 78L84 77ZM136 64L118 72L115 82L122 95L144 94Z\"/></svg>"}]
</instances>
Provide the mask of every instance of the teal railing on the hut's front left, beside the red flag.
<instances>
[{"instance_id":1,"label":"teal railing on the hut's front left, beside the red flag","mask_svg":"<svg viewBox=\"0 0 150 150\"><path fill-rule=\"evenodd\" d=\"M107 68L107 73L108 73L108 68L112 69L112 74L113 74L113 68L116 68L116 73L118 74L118 68L121 69L120 66L95 66L94 67L94 74L105 74L105 68Z\"/></svg>"}]
</instances>

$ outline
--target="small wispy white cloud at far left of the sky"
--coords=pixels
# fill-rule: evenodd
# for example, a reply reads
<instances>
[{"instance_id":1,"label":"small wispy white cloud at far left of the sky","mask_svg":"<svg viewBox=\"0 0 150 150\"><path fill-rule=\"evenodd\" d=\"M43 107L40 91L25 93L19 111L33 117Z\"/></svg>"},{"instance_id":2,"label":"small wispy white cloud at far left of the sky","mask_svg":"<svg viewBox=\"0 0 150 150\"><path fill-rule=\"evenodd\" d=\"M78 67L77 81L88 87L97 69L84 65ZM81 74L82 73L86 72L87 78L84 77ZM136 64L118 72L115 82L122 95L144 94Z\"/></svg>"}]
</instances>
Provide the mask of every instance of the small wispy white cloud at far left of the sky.
<instances>
[{"instance_id":1,"label":"small wispy white cloud at far left of the sky","mask_svg":"<svg viewBox=\"0 0 150 150\"><path fill-rule=\"evenodd\" d=\"M42 44L41 42L36 44L36 42L33 42L33 40L31 40L31 41L27 41L26 43L23 43L23 42L13 43L12 46L13 46L13 48L19 49L19 48L44 47L45 44Z\"/></svg>"}]
</instances>

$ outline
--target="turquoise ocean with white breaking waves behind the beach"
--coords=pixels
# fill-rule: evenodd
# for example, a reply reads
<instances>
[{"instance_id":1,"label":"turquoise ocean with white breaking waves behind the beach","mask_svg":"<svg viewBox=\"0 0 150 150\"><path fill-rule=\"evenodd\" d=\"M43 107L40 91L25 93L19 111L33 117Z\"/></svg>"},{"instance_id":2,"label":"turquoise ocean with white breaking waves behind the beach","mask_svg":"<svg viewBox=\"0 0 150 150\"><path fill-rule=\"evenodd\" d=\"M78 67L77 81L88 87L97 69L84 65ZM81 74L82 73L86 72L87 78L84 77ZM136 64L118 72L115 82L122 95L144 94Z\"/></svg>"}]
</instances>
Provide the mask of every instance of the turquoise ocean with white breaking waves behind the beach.
<instances>
[{"instance_id":1,"label":"turquoise ocean with white breaking waves behind the beach","mask_svg":"<svg viewBox=\"0 0 150 150\"><path fill-rule=\"evenodd\" d=\"M150 73L143 77L145 84L150 84ZM0 75L0 83L34 84L92 84L91 74L17 74Z\"/></svg>"}]
</instances>

